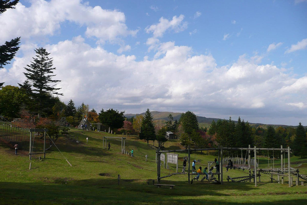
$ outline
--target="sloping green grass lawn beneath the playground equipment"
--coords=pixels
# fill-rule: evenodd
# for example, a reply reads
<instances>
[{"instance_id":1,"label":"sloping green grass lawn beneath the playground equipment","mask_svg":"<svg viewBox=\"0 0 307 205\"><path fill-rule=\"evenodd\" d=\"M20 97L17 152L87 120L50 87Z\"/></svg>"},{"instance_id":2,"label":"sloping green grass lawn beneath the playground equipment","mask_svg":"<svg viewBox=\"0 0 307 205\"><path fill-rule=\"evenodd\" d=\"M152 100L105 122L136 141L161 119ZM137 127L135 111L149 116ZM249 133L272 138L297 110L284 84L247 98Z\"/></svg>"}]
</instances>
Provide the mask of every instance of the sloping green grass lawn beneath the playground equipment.
<instances>
[{"instance_id":1,"label":"sloping green grass lawn beneath the playground equipment","mask_svg":"<svg viewBox=\"0 0 307 205\"><path fill-rule=\"evenodd\" d=\"M137 136L125 136L126 150L134 149L134 157L121 153L121 140L107 140L111 149L103 149L103 136L115 136L104 132L71 129L69 137L56 141L66 162L55 147L46 154L46 159L31 160L27 150L14 149L0 143L0 204L306 204L307 182L305 186L288 187L285 184L270 183L270 175L261 175L261 183L227 183L231 177L246 176L247 170L223 169L223 185L195 181L187 183L187 175L173 175L161 179L161 183L174 184L174 189L157 188L152 180L157 179L155 148L138 140ZM120 136L120 135L118 135ZM78 137L79 143L76 143ZM86 143L88 137L88 143ZM41 152L42 141L34 141L34 152ZM155 142L154 145L157 145ZM165 143L165 150L181 149L178 140ZM183 157L179 154L178 171L182 169ZM148 155L145 161L145 155ZM239 154L241 155L241 153ZM243 153L245 156L245 153ZM42 156L42 155L41 155ZM207 161L216 158L214 152L193 152L191 159L200 160L198 168L206 166ZM291 157L291 167L299 168L301 174L307 173L306 159ZM267 168L267 158L259 158L260 168ZM271 166L271 165L270 165ZM280 160L274 161L280 167ZM287 166L287 159L286 159ZM191 166L192 169L192 166ZM161 167L161 176L176 172L171 164L170 170ZM121 177L117 184L118 174ZM277 177L276 177L277 178ZM295 185L295 181L294 181Z\"/></svg>"}]
</instances>

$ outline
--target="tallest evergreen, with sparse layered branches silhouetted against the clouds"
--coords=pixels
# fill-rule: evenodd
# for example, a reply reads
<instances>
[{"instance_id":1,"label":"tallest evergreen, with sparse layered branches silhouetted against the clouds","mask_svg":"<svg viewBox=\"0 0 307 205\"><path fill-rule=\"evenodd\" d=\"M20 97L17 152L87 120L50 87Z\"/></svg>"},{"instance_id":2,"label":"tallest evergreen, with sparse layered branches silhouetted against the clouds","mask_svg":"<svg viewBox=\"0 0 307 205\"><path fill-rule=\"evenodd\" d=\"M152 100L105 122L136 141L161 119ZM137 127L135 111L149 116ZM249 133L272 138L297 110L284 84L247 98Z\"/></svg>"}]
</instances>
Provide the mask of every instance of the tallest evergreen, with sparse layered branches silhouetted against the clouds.
<instances>
[{"instance_id":1,"label":"tallest evergreen, with sparse layered branches silhouetted against the clouds","mask_svg":"<svg viewBox=\"0 0 307 205\"><path fill-rule=\"evenodd\" d=\"M55 95L63 95L62 93L56 92L60 88L55 88L58 80L52 80L52 77L55 75L50 75L53 73L53 70L56 68L52 68L52 58L49 58L49 54L46 52L44 48L35 49L36 58L33 57L33 62L30 65L25 67L27 73L25 77L32 83L32 91L33 91L33 99L37 101L37 112L38 117L40 117L45 110L50 109L49 101L52 97L52 94ZM52 83L53 85L50 85ZM22 86L19 84L19 86Z\"/></svg>"}]
</instances>

